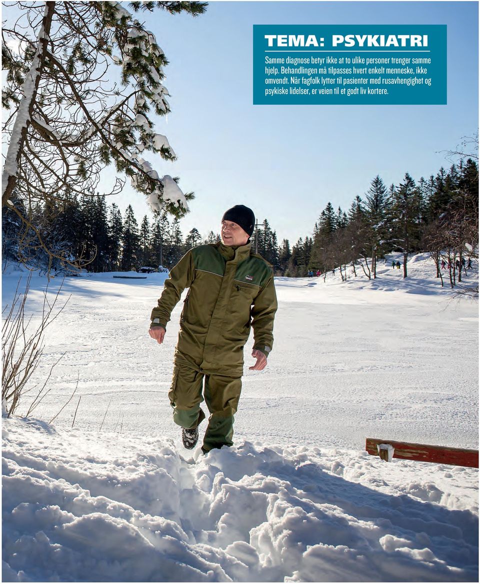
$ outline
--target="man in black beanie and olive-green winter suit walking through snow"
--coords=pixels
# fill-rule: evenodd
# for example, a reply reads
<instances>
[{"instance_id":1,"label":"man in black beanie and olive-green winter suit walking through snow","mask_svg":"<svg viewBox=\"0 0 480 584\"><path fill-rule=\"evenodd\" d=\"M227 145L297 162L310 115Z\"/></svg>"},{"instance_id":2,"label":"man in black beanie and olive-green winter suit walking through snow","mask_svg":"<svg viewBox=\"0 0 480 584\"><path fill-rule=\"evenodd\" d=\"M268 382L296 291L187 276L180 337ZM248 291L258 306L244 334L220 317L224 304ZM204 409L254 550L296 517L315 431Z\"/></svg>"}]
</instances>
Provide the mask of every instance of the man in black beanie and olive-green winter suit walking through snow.
<instances>
[{"instance_id":1,"label":"man in black beanie and olive-green winter suit walking through snow","mask_svg":"<svg viewBox=\"0 0 480 584\"><path fill-rule=\"evenodd\" d=\"M152 310L149 335L162 343L171 312L182 291L189 288L168 394L173 420L182 427L187 449L196 445L199 425L206 417L200 408L203 399L210 418L202 451L232 446L244 345L251 326L256 363L249 369L265 369L272 350L277 298L272 266L251 250L254 225L250 208L228 209L222 217L221 241L190 249L172 268Z\"/></svg>"}]
</instances>

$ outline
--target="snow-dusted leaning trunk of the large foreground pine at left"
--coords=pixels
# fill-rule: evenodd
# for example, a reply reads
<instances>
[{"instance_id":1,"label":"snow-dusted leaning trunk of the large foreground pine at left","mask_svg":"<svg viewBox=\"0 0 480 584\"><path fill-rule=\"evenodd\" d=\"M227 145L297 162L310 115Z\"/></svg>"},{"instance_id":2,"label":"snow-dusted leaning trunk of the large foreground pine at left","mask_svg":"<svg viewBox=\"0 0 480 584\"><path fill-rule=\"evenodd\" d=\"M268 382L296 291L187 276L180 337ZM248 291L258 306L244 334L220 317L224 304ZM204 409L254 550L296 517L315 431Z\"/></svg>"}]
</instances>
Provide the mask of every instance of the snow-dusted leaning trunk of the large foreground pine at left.
<instances>
[{"instance_id":1,"label":"snow-dusted leaning trunk of the large foreground pine at left","mask_svg":"<svg viewBox=\"0 0 480 584\"><path fill-rule=\"evenodd\" d=\"M55 11L55 2L46 2L41 29L37 39L37 53L33 57L30 71L25 76L22 86L22 99L13 123L10 144L6 154L4 171L2 172L2 207L7 204L17 182L18 165L22 156L22 148L27 137L27 130L33 115L33 105L40 84L41 72L50 36L51 21Z\"/></svg>"}]
</instances>

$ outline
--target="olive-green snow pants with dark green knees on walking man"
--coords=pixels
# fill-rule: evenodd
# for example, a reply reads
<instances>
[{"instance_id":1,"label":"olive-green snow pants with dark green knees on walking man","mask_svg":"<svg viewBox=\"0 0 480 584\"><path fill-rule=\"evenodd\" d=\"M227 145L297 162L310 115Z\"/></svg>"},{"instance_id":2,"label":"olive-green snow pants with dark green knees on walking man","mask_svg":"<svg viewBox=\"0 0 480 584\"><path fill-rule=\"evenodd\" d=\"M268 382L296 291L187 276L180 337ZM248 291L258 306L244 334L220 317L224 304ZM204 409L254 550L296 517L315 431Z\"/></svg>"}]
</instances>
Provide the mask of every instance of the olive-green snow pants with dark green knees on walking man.
<instances>
[{"instance_id":1,"label":"olive-green snow pants with dark green knees on walking man","mask_svg":"<svg viewBox=\"0 0 480 584\"><path fill-rule=\"evenodd\" d=\"M203 401L202 389L210 412L203 439L203 452L224 445L232 446L234 414L242 389L241 377L208 375L183 363L176 363L168 394L173 408L173 421L183 428L196 428L205 419L205 413L200 408Z\"/></svg>"}]
</instances>

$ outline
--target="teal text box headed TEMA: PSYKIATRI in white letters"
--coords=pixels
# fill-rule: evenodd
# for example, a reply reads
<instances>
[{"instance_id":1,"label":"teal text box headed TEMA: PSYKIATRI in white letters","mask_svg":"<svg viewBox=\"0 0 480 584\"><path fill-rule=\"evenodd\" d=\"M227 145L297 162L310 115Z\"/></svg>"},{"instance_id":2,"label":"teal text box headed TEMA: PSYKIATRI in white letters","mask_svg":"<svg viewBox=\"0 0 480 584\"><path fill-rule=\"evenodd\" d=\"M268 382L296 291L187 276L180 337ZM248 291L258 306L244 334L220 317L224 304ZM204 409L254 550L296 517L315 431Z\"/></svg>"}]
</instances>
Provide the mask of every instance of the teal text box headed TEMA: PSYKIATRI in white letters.
<instances>
[{"instance_id":1,"label":"teal text box headed TEMA: PSYKIATRI in white letters","mask_svg":"<svg viewBox=\"0 0 480 584\"><path fill-rule=\"evenodd\" d=\"M254 105L446 103L446 25L253 25Z\"/></svg>"}]
</instances>

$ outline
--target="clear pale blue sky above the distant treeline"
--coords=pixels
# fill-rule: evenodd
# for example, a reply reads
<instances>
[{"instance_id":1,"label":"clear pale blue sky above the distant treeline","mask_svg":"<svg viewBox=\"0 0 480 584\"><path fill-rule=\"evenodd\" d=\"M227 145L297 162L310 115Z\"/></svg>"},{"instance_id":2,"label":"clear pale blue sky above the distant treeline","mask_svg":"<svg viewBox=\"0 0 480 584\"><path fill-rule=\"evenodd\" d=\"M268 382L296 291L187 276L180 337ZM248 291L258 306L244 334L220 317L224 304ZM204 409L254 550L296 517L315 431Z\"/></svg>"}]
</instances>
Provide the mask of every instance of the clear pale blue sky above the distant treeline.
<instances>
[{"instance_id":1,"label":"clear pale blue sky above the distant treeline","mask_svg":"<svg viewBox=\"0 0 480 584\"><path fill-rule=\"evenodd\" d=\"M377 174L390 185L448 168L441 151L478 127L477 2L218 1L197 18L139 14L170 61L172 113L156 131L179 160L148 158L196 193L184 234L217 232L224 211L242 203L293 244L311 235L328 201L347 210ZM252 105L253 25L389 23L447 25L448 105ZM139 221L151 215L131 187L113 200L122 213L131 203Z\"/></svg>"}]
</instances>

